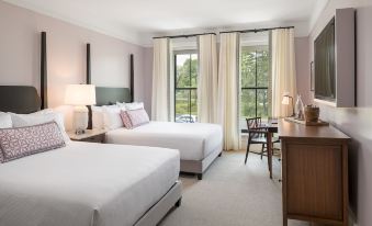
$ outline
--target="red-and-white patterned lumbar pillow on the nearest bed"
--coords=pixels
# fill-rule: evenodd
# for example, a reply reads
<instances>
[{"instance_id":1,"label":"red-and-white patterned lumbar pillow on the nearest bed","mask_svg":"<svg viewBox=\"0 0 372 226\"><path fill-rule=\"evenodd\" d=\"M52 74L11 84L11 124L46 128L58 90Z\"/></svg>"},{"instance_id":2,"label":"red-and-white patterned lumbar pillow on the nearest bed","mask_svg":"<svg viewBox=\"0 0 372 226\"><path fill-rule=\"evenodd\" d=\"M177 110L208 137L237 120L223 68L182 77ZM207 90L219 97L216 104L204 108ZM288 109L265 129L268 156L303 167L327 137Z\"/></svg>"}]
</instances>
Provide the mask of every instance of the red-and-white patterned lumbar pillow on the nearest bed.
<instances>
[{"instance_id":1,"label":"red-and-white patterned lumbar pillow on the nearest bed","mask_svg":"<svg viewBox=\"0 0 372 226\"><path fill-rule=\"evenodd\" d=\"M3 161L66 146L56 122L0 129L0 147Z\"/></svg>"}]
</instances>

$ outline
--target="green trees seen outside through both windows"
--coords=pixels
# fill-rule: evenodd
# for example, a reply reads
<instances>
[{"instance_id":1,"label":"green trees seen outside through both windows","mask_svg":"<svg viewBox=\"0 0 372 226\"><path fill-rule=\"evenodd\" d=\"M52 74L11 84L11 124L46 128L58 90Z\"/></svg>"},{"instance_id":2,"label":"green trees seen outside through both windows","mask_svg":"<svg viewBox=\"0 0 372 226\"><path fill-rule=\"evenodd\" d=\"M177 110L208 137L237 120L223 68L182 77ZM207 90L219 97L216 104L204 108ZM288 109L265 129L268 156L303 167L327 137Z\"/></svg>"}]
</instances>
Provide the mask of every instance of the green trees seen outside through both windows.
<instances>
[{"instance_id":1,"label":"green trees seen outside through both windows","mask_svg":"<svg viewBox=\"0 0 372 226\"><path fill-rule=\"evenodd\" d=\"M198 115L198 55L181 54L185 59L177 64L176 70L176 115ZM244 47L240 58L241 88L268 88L269 63L268 46ZM179 60L177 58L177 60ZM257 76L256 76L257 74ZM193 89L177 89L193 88ZM256 115L257 95L257 115ZM243 117L268 117L268 90L241 89L240 114ZM191 103L191 104L190 104Z\"/></svg>"}]
</instances>

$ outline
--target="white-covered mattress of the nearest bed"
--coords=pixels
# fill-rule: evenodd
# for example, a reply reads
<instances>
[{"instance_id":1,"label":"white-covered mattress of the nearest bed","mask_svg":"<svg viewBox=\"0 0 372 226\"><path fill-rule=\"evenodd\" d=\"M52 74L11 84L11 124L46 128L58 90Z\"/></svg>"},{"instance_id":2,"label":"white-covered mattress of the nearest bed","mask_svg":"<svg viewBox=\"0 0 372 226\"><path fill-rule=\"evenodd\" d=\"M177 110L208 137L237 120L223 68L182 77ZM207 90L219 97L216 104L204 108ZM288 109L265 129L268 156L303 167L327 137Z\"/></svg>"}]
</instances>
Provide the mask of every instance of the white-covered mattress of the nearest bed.
<instances>
[{"instance_id":1,"label":"white-covered mattress of the nearest bed","mask_svg":"<svg viewBox=\"0 0 372 226\"><path fill-rule=\"evenodd\" d=\"M179 165L172 149L77 142L0 163L0 225L133 225L174 184Z\"/></svg>"}]
</instances>

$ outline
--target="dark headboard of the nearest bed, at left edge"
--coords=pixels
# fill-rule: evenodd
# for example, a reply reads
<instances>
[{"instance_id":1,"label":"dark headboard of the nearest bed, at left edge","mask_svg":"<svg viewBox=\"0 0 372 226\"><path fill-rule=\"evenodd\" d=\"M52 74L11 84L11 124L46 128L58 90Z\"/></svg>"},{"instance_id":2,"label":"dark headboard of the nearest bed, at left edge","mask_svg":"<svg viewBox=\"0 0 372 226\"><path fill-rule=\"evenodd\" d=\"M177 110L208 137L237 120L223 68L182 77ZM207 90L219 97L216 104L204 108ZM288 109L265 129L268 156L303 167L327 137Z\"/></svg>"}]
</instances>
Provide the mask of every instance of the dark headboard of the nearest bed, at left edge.
<instances>
[{"instance_id":1,"label":"dark headboard of the nearest bed, at left edge","mask_svg":"<svg viewBox=\"0 0 372 226\"><path fill-rule=\"evenodd\" d=\"M0 86L0 111L29 114L41 110L42 100L34 87Z\"/></svg>"}]
</instances>

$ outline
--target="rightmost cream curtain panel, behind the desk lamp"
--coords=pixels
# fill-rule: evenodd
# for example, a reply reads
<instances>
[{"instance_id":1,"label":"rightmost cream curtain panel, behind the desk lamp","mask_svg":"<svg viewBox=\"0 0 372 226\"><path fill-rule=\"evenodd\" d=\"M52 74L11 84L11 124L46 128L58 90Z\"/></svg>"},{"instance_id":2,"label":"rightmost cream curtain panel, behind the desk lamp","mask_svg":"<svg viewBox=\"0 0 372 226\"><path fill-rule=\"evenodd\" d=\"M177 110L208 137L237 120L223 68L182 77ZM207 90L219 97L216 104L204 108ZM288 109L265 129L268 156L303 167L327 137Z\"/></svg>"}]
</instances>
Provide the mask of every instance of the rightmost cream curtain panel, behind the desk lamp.
<instances>
[{"instance_id":1,"label":"rightmost cream curtain panel, behind the desk lamp","mask_svg":"<svg viewBox=\"0 0 372 226\"><path fill-rule=\"evenodd\" d=\"M279 29L271 34L272 56L272 112L274 117L289 116L292 104L283 105L282 99L285 92L291 97L296 95L296 69L294 55L294 30Z\"/></svg>"}]
</instances>

